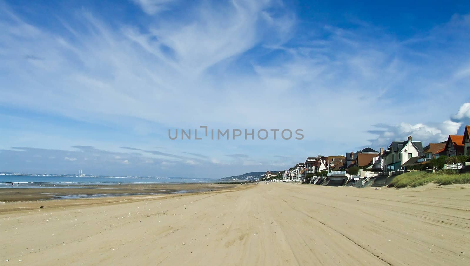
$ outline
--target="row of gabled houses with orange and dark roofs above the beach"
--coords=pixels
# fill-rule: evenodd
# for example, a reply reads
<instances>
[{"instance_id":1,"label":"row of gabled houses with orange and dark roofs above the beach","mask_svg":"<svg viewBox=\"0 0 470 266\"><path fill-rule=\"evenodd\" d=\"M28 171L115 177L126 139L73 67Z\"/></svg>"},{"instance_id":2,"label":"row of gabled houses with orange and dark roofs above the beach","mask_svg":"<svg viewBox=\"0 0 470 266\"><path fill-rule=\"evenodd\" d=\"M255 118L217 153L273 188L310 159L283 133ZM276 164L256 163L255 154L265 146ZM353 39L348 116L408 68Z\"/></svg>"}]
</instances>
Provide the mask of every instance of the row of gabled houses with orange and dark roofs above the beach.
<instances>
[{"instance_id":1,"label":"row of gabled houses with orange and dark roofs above the beach","mask_svg":"<svg viewBox=\"0 0 470 266\"><path fill-rule=\"evenodd\" d=\"M464 134L449 135L447 140L441 143L429 143L423 147L421 141L416 141L412 136L407 140L392 141L385 149L376 151L370 147L357 152L346 152L345 155L308 157L305 162L296 164L284 171L283 179L305 179L309 174L317 174L321 171L346 171L351 167L369 171L395 171L416 169L423 167L432 159L446 155L470 156L470 126L467 125Z\"/></svg>"}]
</instances>

